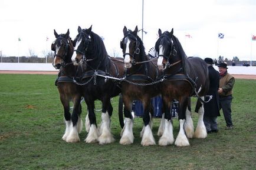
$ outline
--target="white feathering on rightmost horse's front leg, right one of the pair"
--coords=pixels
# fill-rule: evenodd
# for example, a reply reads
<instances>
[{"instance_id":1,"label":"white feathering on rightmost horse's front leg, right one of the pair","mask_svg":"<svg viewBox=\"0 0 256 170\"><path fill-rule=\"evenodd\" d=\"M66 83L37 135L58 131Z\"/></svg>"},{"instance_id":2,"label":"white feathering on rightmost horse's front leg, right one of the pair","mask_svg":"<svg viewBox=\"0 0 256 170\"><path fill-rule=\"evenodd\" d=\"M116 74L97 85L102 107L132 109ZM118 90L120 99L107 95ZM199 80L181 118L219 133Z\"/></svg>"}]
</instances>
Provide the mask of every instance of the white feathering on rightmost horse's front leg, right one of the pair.
<instances>
[{"instance_id":1,"label":"white feathering on rightmost horse's front leg, right one of the pair","mask_svg":"<svg viewBox=\"0 0 256 170\"><path fill-rule=\"evenodd\" d=\"M179 134L175 141L176 146L189 146L188 138L186 137L185 131L183 129L184 123L185 123L185 119L179 120Z\"/></svg>"}]
</instances>

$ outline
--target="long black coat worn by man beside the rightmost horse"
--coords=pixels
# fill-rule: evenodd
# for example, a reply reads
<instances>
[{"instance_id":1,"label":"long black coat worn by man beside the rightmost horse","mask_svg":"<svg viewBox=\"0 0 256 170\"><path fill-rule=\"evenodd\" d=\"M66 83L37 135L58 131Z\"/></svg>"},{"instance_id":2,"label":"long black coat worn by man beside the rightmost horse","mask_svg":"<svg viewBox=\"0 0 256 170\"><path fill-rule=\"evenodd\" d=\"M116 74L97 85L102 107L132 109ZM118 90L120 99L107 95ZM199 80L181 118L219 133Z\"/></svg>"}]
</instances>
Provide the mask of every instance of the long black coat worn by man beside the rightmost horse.
<instances>
[{"instance_id":1,"label":"long black coat worn by man beside the rightmost horse","mask_svg":"<svg viewBox=\"0 0 256 170\"><path fill-rule=\"evenodd\" d=\"M204 104L205 116L220 116L219 114L219 72L214 69L214 67L208 66L209 70L209 91L206 95L212 95L211 101ZM207 98L206 98L207 99Z\"/></svg>"}]
</instances>

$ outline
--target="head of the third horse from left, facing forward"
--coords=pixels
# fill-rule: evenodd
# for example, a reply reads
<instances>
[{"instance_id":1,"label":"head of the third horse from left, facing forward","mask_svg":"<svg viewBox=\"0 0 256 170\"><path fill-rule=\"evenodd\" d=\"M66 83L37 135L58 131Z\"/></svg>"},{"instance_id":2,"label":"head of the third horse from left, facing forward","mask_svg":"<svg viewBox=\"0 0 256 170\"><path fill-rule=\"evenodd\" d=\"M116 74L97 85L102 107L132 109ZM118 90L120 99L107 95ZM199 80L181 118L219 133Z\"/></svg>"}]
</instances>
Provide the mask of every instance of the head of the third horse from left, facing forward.
<instances>
[{"instance_id":1,"label":"head of the third horse from left, facing forward","mask_svg":"<svg viewBox=\"0 0 256 170\"><path fill-rule=\"evenodd\" d=\"M123 51L124 57L124 67L131 68L132 65L135 65L136 56L143 55L145 48L143 42L137 36L138 28L135 27L134 31L127 30L126 26L123 28L124 38L120 42L120 47Z\"/></svg>"}]
</instances>

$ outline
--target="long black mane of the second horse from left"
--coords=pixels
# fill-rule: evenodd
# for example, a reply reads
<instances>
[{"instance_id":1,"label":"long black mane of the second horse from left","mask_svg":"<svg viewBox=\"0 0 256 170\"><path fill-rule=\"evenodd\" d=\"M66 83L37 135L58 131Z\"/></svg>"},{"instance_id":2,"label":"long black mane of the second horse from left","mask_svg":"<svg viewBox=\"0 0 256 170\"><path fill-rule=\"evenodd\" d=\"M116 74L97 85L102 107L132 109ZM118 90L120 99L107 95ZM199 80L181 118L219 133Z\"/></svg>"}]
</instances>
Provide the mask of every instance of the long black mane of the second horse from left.
<instances>
[{"instance_id":1,"label":"long black mane of the second horse from left","mask_svg":"<svg viewBox=\"0 0 256 170\"><path fill-rule=\"evenodd\" d=\"M96 58L98 61L101 61L101 66L104 65L104 68L109 68L111 66L111 61L109 59L109 55L107 54L107 50L103 40L99 35L97 35L93 31L90 32L90 36L92 39L90 44L91 43L93 44L89 45L90 46L89 49L91 50L88 50L88 52L90 52L90 55L93 58ZM98 64L99 62L94 62L94 63Z\"/></svg>"}]
</instances>

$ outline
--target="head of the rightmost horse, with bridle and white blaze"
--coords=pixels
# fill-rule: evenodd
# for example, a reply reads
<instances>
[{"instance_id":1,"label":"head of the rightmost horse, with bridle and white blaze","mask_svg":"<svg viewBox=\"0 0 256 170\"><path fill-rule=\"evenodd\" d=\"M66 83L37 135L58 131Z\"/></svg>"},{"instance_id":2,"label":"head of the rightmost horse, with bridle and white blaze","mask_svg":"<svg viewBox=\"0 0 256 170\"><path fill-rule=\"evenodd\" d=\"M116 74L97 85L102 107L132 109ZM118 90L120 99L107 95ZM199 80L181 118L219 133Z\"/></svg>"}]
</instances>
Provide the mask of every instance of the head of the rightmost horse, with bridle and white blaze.
<instances>
[{"instance_id":1,"label":"head of the rightmost horse, with bridle and white blaze","mask_svg":"<svg viewBox=\"0 0 256 170\"><path fill-rule=\"evenodd\" d=\"M156 41L155 49L158 54L157 66L160 70L165 70L170 66L172 56L176 55L175 45L173 45L173 29L162 34L161 29L158 30L159 38Z\"/></svg>"}]
</instances>

